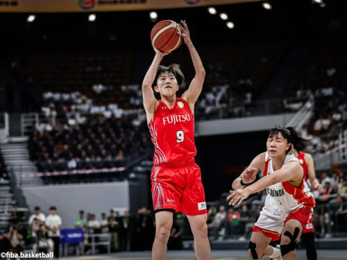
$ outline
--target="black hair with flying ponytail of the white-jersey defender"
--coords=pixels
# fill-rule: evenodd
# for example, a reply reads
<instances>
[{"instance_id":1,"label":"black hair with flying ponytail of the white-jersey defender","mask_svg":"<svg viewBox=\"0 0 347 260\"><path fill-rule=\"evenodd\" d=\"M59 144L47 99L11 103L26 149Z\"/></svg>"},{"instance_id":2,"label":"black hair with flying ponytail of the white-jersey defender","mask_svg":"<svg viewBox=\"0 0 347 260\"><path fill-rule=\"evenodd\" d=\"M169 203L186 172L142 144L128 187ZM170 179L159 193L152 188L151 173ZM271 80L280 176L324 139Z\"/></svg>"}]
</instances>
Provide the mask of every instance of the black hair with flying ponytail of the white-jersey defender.
<instances>
[{"instance_id":1,"label":"black hair with flying ponytail of the white-jersey defender","mask_svg":"<svg viewBox=\"0 0 347 260\"><path fill-rule=\"evenodd\" d=\"M299 137L298 132L294 128L282 128L280 125L275 125L275 128L272 128L269 131L269 137L274 137L281 133L282 136L287 139L288 143L291 143L291 146L294 146L294 149L297 152L305 150L307 146L311 144L311 141L302 137ZM287 150L287 153L291 150L291 147Z\"/></svg>"}]
</instances>

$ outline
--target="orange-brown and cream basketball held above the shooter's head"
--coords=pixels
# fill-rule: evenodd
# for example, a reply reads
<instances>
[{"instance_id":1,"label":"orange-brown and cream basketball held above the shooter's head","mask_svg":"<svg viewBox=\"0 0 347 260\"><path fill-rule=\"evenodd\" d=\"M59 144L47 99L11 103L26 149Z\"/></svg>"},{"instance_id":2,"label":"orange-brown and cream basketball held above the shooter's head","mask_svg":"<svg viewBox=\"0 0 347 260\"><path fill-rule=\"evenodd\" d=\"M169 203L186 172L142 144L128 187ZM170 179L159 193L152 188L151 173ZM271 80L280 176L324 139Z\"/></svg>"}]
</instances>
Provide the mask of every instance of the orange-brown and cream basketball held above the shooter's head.
<instances>
[{"instance_id":1,"label":"orange-brown and cream basketball held above the shooter's head","mask_svg":"<svg viewBox=\"0 0 347 260\"><path fill-rule=\"evenodd\" d=\"M182 43L182 37L177 34L180 27L175 21L159 21L153 26L151 31L151 41L153 46L159 51L174 51Z\"/></svg>"}]
</instances>

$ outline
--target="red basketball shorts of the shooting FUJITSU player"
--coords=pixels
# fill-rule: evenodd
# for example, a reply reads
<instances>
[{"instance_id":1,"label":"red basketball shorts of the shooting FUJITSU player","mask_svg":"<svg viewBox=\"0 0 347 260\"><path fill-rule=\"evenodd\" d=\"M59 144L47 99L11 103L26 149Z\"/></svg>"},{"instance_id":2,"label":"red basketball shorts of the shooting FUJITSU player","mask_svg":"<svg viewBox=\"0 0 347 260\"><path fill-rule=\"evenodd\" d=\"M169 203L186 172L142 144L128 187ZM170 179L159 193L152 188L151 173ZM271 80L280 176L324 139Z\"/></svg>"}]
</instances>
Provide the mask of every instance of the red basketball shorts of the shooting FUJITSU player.
<instances>
[{"instance_id":1,"label":"red basketball shorts of the shooting FUJITSU player","mask_svg":"<svg viewBox=\"0 0 347 260\"><path fill-rule=\"evenodd\" d=\"M153 166L151 182L154 210L174 209L188 216L207 213L201 171L194 159Z\"/></svg>"}]
</instances>

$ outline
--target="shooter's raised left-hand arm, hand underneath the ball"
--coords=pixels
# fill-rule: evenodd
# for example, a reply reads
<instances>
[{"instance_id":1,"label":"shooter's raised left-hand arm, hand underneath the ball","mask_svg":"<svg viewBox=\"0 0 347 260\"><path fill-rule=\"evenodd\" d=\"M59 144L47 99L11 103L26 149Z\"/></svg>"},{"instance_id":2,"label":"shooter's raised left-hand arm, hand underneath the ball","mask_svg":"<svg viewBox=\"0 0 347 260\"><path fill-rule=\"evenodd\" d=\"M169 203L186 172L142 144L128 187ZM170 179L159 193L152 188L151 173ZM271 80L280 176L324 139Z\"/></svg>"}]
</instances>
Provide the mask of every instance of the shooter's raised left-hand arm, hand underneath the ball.
<instances>
[{"instance_id":1,"label":"shooter's raised left-hand arm, hand underneath the ball","mask_svg":"<svg viewBox=\"0 0 347 260\"><path fill-rule=\"evenodd\" d=\"M144 99L144 110L146 110L147 121L151 121L149 120L149 118L153 117L155 112L155 105L158 103L152 89L152 84L155 80L155 74L157 73L159 64L162 61L164 55L169 54L169 52L163 53L162 51L155 49L154 46L153 49L155 51L153 62L149 67L149 70L147 71L146 75L144 76L144 80L142 81L142 96Z\"/></svg>"}]
</instances>

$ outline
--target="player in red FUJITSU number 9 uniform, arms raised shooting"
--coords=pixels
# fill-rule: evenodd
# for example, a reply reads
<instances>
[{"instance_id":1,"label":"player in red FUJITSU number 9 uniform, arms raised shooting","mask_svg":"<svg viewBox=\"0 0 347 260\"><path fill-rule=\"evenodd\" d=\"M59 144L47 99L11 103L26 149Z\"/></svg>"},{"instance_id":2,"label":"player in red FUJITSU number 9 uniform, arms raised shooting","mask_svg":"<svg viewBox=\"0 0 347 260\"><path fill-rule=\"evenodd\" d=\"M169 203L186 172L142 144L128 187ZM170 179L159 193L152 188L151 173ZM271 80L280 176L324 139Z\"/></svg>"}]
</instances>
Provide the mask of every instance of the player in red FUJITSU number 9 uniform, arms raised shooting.
<instances>
[{"instance_id":1,"label":"player in red FUJITSU number 9 uniform, arms raised shooting","mask_svg":"<svg viewBox=\"0 0 347 260\"><path fill-rule=\"evenodd\" d=\"M182 25L181 25L182 24ZM187 215L194 234L196 257L211 259L205 193L200 168L194 161L194 104L203 88L205 69L190 40L185 21L181 21L178 33L189 49L195 76L189 88L178 98L176 92L184 81L177 64L160 66L164 55L154 49L155 57L144 77L142 94L151 139L155 146L151 172L152 198L155 210L155 240L152 259L165 259L173 214ZM158 101L154 91L160 94Z\"/></svg>"}]
</instances>

